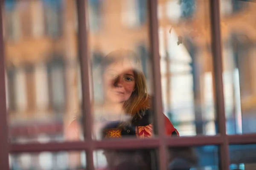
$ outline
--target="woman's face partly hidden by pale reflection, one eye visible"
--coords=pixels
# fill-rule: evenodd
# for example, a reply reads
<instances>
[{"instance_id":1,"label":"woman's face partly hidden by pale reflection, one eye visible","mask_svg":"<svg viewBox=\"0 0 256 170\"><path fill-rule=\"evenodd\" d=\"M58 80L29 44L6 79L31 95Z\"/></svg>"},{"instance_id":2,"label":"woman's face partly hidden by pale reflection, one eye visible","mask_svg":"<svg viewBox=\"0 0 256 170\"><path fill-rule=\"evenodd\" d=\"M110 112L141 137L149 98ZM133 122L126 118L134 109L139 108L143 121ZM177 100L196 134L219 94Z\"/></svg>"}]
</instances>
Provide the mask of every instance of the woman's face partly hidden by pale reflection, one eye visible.
<instances>
[{"instance_id":1,"label":"woman's face partly hidden by pale reflection, one eye visible","mask_svg":"<svg viewBox=\"0 0 256 170\"><path fill-rule=\"evenodd\" d=\"M109 102L125 102L135 90L133 65L131 61L124 59L113 62L106 68L103 76L103 84L105 98Z\"/></svg>"}]
</instances>

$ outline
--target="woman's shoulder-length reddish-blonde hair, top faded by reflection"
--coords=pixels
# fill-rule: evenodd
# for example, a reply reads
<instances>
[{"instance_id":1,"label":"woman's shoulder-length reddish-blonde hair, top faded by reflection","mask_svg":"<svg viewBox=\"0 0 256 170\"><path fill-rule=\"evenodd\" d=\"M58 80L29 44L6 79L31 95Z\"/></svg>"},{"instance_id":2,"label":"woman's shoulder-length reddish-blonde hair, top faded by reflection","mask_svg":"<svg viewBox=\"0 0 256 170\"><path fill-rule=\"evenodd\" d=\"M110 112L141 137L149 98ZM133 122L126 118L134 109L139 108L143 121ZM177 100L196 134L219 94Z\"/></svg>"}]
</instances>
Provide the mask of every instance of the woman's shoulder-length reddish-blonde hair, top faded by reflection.
<instances>
[{"instance_id":1,"label":"woman's shoulder-length reddish-blonde hair, top faded by reflection","mask_svg":"<svg viewBox=\"0 0 256 170\"><path fill-rule=\"evenodd\" d=\"M131 117L129 123L132 120L141 118L141 112L150 108L150 100L148 96L147 83L145 75L142 71L142 66L140 59L134 51L131 50L116 50L109 53L102 60L102 71L104 72L108 65L123 61L128 59L128 61L134 62L134 78L135 78L135 91L132 92L131 96L123 105L125 114L128 114Z\"/></svg>"}]
</instances>

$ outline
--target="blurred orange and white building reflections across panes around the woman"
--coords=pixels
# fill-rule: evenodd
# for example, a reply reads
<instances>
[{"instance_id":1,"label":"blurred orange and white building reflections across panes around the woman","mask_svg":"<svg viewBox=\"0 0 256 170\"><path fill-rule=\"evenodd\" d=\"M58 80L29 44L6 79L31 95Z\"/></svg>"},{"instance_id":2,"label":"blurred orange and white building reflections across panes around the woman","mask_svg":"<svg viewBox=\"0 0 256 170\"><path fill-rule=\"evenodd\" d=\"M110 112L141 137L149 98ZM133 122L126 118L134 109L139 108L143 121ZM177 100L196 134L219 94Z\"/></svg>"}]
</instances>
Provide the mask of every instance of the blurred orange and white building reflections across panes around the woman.
<instances>
[{"instance_id":1,"label":"blurred orange and white building reflections across panes around the woman","mask_svg":"<svg viewBox=\"0 0 256 170\"><path fill-rule=\"evenodd\" d=\"M119 48L132 49L140 56L152 93L147 2L87 0L91 81L96 102L102 97L96 68L102 57ZM256 3L253 0L220 0L220 3L227 134L255 133ZM158 0L158 23L164 113L180 136L215 135L218 125L209 0ZM5 0L3 26L10 141L67 140L68 125L81 114L76 1ZM244 160L231 158L234 165L230 168L253 166L253 161L243 156L247 147L239 146L232 148ZM256 147L250 148L253 151ZM212 162L213 157L218 159L218 148L215 150L216 146L200 147L200 158L208 154L209 159L200 161L197 168L218 169L218 163ZM79 159L70 159L71 153L10 155L10 164L13 170L66 170L84 166L85 154L74 154ZM67 163L65 166L58 163L60 156ZM95 156L95 166L104 167L102 154L97 152ZM48 161L40 163L42 157Z\"/></svg>"}]
</instances>

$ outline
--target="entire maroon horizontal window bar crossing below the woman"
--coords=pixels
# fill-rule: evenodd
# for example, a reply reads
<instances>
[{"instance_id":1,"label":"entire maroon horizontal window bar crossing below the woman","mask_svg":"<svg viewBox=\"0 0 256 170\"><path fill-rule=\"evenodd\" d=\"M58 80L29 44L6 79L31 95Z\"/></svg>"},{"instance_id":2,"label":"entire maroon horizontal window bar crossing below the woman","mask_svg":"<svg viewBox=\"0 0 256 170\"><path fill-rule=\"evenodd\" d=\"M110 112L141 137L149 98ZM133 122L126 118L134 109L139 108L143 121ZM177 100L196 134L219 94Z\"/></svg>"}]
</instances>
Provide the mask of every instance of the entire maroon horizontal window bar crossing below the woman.
<instances>
[{"instance_id":1,"label":"entire maroon horizontal window bar crossing below the woman","mask_svg":"<svg viewBox=\"0 0 256 170\"><path fill-rule=\"evenodd\" d=\"M167 137L166 144L169 147L220 145L225 136L191 136L191 137ZM229 144L256 144L256 134L229 135ZM64 151L64 150L87 150L94 146L95 149L145 149L158 148L158 138L151 139L113 139L103 141L79 141L79 142L50 142L50 143L28 143L11 144L10 153L42 152L42 151Z\"/></svg>"}]
</instances>

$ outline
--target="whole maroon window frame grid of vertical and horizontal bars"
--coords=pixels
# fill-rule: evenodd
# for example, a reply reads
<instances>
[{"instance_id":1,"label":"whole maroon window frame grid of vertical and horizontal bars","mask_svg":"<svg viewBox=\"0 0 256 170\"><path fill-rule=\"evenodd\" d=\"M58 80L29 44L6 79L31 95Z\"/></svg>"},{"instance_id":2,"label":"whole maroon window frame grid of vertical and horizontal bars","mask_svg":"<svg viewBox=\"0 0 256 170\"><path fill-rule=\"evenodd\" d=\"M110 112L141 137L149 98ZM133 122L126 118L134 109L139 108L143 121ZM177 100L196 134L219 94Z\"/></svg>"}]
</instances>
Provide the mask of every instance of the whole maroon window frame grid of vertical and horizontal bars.
<instances>
[{"instance_id":1,"label":"whole maroon window frame grid of vertical and horizontal bars","mask_svg":"<svg viewBox=\"0 0 256 170\"><path fill-rule=\"evenodd\" d=\"M79 57L81 63L81 83L83 97L83 129L85 141L78 142L49 142L47 144L29 143L29 144L10 144L8 142L8 126L6 114L6 91L5 91L5 57L3 34L0 34L0 167L3 170L9 169L9 153L23 152L41 152L41 151L68 151L84 150L86 151L87 169L94 170L93 151L97 149L120 149L120 148L156 148L159 150L160 169L166 170L166 148L182 146L202 146L218 145L220 146L220 168L228 170L229 144L253 144L256 143L256 134L227 135L226 119L224 111L224 93L222 82L222 51L221 51L221 30L220 30L220 0L210 0L210 18L212 34L212 56L214 66L214 88L215 104L218 117L218 134L215 136L195 136L170 138L164 134L163 108L161 96L160 80L160 60L158 50L158 21L157 21L157 0L148 1L149 23L150 23L150 45L151 45L151 63L154 78L154 99L153 107L157 113L157 134L156 138L137 140L137 139L119 139L113 141L94 141L92 139L92 115L90 106L90 61L88 56L87 42L87 16L86 0L77 0L78 22L79 22ZM0 32L3 33L3 0L0 0ZM154 63L154 64L153 64Z\"/></svg>"}]
</instances>

